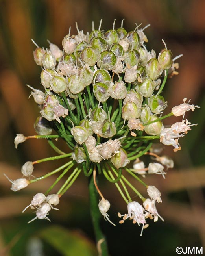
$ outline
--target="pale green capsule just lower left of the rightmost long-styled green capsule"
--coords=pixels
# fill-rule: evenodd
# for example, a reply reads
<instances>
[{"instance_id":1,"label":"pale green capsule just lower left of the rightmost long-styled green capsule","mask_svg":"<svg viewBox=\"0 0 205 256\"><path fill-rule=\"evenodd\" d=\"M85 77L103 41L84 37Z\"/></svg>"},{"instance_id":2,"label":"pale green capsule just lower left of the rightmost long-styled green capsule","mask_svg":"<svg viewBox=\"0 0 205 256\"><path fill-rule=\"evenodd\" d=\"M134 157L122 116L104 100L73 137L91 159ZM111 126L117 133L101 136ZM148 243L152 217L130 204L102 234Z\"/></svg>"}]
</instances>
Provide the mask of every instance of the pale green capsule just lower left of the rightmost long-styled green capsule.
<instances>
[{"instance_id":1,"label":"pale green capsule just lower left of the rightmost long-styled green capsule","mask_svg":"<svg viewBox=\"0 0 205 256\"><path fill-rule=\"evenodd\" d=\"M156 80L162 74L162 69L161 69L159 62L156 58L150 59L148 61L148 63L146 64L145 69L146 69L146 74L152 80Z\"/></svg>"}]
</instances>

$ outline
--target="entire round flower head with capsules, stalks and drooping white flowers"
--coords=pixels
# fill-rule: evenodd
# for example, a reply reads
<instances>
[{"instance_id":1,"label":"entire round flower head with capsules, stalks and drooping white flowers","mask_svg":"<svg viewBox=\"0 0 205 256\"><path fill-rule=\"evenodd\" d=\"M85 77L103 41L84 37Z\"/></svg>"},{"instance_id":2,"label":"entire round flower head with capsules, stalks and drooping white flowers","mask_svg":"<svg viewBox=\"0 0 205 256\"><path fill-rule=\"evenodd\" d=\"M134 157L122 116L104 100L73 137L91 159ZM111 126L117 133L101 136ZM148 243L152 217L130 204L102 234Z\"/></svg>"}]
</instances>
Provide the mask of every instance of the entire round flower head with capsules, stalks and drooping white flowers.
<instances>
[{"instance_id":1,"label":"entire round flower head with capsules, stalks and drooping white flowers","mask_svg":"<svg viewBox=\"0 0 205 256\"><path fill-rule=\"evenodd\" d=\"M100 202L95 203L96 210L115 226L107 213L111 203L103 197L97 184L104 176L115 184L127 204L128 213L119 214L119 217L123 216L120 223L129 218L133 223L142 224L143 231L148 227L146 218L164 220L156 209L156 201L162 202L161 193L138 175L161 174L165 178L167 169L174 166L172 159L158 155L161 154L159 150L159 153L154 151L153 140L172 145L174 151L181 150L179 138L184 137L191 126L197 125L184 120L184 114L199 107L186 103L185 98L183 104L163 115L167 101L161 93L168 74L178 74L175 69L179 65L174 61L181 55L172 58L172 52L165 43L165 48L158 55L153 49L148 51L144 44L148 42L144 33L148 26L140 29L136 25L133 31L127 32L123 21L117 29L114 21L113 28L107 31L101 30L101 25L102 20L96 30L93 23L92 32L84 34L76 24L78 34L71 35L70 28L63 38L63 49L48 42L49 48L44 50L33 41L37 46L33 52L34 60L42 67L42 91L28 86L41 109L34 124L37 135L26 137L17 134L14 143L17 148L27 139L46 139L57 155L24 163L21 172L30 180L19 178L13 181L5 176L12 183L11 190L19 191L30 183L59 173L54 184L44 193L37 193L23 210L37 208L36 217L31 221L50 221L49 211L58 210L54 206L59 204L59 198L83 173L100 195ZM183 120L164 128L163 119L172 115L183 115ZM65 141L71 153L58 148L55 139ZM157 163L149 163L145 167L142 156L154 156ZM67 159L64 165L41 177L33 176L34 164L61 158ZM133 168L129 168L129 163ZM144 198L137 186L127 180L126 174L143 185L151 199ZM48 195L61 179L65 180L59 191ZM130 191L144 207L132 200Z\"/></svg>"}]
</instances>

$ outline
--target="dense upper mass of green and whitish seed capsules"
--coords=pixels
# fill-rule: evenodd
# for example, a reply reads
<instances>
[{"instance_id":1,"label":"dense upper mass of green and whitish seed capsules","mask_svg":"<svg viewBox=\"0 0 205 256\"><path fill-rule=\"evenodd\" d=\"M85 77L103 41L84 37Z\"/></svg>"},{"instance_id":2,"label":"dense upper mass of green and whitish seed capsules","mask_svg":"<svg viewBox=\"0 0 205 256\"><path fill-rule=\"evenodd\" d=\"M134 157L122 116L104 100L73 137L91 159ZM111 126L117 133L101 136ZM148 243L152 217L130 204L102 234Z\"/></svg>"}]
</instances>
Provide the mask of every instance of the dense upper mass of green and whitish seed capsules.
<instances>
[{"instance_id":1,"label":"dense upper mass of green and whitish seed capsules","mask_svg":"<svg viewBox=\"0 0 205 256\"><path fill-rule=\"evenodd\" d=\"M37 46L33 52L42 67L44 87L44 92L33 89L31 93L37 104L39 95L44 101L39 104L41 118L35 129L38 134L50 134L44 122L47 119L54 121L53 128L62 135L62 124L55 121L63 122L63 135L74 160L81 163L89 158L100 163L111 158L120 168L129 163L124 138L120 141L124 125L131 136L137 135L132 130L144 130L148 135L159 135L163 130L161 121L143 123L157 119L156 114L167 106L157 90L163 71L173 69L172 53L164 48L157 57L154 50L146 49L147 26L127 32L123 22L115 29L114 21L111 30L103 31L101 22L98 30L93 24L91 33L84 34L78 26L78 35L69 31L62 41L63 50L49 42L49 49Z\"/></svg>"}]
</instances>

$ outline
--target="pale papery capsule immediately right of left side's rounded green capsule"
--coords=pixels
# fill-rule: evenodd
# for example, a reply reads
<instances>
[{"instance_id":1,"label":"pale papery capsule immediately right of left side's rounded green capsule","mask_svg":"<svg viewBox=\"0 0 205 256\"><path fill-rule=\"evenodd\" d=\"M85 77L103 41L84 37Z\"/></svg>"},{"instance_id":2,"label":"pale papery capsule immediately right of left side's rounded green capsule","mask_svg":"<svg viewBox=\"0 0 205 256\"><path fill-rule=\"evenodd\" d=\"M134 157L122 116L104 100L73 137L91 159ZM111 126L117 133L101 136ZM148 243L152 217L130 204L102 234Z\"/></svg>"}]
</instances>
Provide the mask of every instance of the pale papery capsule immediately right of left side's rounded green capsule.
<instances>
[{"instance_id":1,"label":"pale papery capsule immediately right of left side's rounded green capsule","mask_svg":"<svg viewBox=\"0 0 205 256\"><path fill-rule=\"evenodd\" d=\"M77 94L84 90L85 83L81 79L81 76L78 76L78 74L72 75L68 77L68 88L71 93ZM67 88L67 92L68 92L68 88Z\"/></svg>"}]
</instances>

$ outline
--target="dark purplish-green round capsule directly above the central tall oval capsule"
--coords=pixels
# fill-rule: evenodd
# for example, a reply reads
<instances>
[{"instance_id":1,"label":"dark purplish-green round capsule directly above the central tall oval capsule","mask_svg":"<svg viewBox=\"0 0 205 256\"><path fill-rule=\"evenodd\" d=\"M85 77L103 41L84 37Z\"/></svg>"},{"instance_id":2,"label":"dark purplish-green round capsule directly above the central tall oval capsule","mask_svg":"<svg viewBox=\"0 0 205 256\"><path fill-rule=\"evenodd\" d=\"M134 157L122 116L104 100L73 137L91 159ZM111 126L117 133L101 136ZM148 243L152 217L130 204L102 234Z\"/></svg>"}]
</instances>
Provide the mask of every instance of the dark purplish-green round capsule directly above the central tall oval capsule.
<instances>
[{"instance_id":1,"label":"dark purplish-green round capsule directly above the central tall oval capsule","mask_svg":"<svg viewBox=\"0 0 205 256\"><path fill-rule=\"evenodd\" d=\"M115 68L117 58L111 51L104 51L100 53L97 65L100 69L112 70Z\"/></svg>"}]
</instances>

